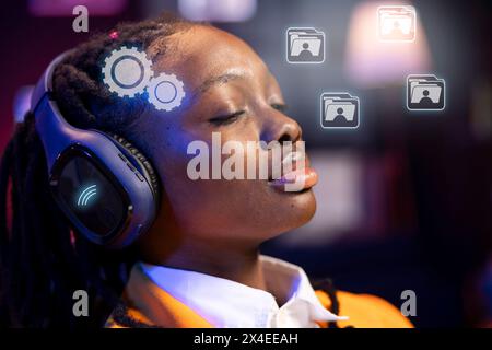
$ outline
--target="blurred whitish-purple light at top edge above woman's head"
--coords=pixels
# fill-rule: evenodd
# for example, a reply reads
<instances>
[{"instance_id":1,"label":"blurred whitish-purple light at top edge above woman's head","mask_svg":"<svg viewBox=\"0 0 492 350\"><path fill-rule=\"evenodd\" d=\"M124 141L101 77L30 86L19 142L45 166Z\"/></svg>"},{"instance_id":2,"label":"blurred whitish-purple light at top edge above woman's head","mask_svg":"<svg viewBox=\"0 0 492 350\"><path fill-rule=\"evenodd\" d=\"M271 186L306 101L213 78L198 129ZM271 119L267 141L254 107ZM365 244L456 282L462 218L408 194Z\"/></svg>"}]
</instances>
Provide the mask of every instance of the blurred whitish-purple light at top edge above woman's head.
<instances>
[{"instance_id":1,"label":"blurred whitish-purple light at top edge above woman's head","mask_svg":"<svg viewBox=\"0 0 492 350\"><path fill-rule=\"evenodd\" d=\"M257 0L178 0L179 13L192 21L244 22L256 12Z\"/></svg>"}]
</instances>

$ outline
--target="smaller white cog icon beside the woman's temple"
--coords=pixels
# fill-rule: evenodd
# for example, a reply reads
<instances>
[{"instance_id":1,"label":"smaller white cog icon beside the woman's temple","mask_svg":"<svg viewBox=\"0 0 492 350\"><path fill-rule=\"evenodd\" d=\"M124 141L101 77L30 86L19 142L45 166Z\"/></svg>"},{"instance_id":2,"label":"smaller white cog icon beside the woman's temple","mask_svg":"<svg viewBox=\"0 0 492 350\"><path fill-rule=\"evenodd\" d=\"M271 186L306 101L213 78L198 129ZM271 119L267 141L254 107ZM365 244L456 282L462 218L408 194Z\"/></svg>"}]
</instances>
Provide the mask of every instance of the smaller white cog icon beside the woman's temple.
<instances>
[{"instance_id":1,"label":"smaller white cog icon beside the woman's temple","mask_svg":"<svg viewBox=\"0 0 492 350\"><path fill-rule=\"evenodd\" d=\"M156 109L169 112L181 104L185 97L183 82L175 74L161 73L152 78L149 86L149 102Z\"/></svg>"}]
</instances>

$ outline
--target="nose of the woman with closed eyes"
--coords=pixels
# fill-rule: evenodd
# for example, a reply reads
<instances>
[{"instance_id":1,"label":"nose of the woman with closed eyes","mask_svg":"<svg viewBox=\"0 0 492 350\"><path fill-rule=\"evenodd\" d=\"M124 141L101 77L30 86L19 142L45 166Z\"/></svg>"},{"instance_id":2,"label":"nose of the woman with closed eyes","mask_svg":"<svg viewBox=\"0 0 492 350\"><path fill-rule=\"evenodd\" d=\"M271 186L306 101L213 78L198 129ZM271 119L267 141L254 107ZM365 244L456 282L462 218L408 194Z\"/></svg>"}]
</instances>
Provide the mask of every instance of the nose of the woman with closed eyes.
<instances>
[{"instance_id":1,"label":"nose of the woman with closed eyes","mask_svg":"<svg viewBox=\"0 0 492 350\"><path fill-rule=\"evenodd\" d=\"M273 110L262 122L260 139L267 143L271 141L296 142L302 139L302 129L294 119L279 110Z\"/></svg>"}]
</instances>

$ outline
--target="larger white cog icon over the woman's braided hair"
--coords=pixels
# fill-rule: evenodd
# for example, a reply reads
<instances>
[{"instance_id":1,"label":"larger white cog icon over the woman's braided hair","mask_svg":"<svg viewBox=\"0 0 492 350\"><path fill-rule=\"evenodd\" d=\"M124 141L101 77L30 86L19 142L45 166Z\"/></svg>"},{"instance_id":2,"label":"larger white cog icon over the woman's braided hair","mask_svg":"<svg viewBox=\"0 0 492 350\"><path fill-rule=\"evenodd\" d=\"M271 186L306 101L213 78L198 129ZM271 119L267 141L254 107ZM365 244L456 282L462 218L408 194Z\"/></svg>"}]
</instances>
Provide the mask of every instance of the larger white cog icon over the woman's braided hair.
<instances>
[{"instance_id":1,"label":"larger white cog icon over the woman's braided hair","mask_svg":"<svg viewBox=\"0 0 492 350\"><path fill-rule=\"evenodd\" d=\"M137 47L121 47L106 57L103 81L118 96L133 97L143 93L153 75L152 61Z\"/></svg>"}]
</instances>

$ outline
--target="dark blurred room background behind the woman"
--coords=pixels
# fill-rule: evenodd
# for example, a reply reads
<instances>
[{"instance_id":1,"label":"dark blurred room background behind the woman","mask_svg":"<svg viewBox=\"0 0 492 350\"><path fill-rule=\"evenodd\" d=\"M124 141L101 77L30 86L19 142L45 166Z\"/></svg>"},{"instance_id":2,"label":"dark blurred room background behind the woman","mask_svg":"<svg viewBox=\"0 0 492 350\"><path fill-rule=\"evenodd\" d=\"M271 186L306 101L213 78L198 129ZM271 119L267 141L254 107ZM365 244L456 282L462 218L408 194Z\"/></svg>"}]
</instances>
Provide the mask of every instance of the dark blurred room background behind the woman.
<instances>
[{"instance_id":1,"label":"dark blurred room background behind the woman","mask_svg":"<svg viewBox=\"0 0 492 350\"><path fill-rule=\"evenodd\" d=\"M63 1L1 4L0 150L13 130L16 93L35 83L57 54L120 21L164 10L181 9L187 15L178 0L116 1L120 7L103 15L95 4L105 1L81 0L74 4L89 3L86 34L72 31L71 11L39 15L35 5L43 9L43 2L57 8ZM186 2L199 7L208 1ZM384 77L390 66L402 65L401 78L367 82L353 73L360 72L359 66L364 70L370 59L358 51L358 14L367 16L367 9L380 2L253 2L256 11L249 19L212 22L244 38L265 59L280 82L290 115L304 129L315 167L321 168L313 222L265 244L263 252L302 265L314 278L330 277L339 289L374 293L395 305L402 303L403 290L413 290L417 316L411 319L417 326L491 325L492 2L411 3L418 11L418 36L425 38L418 47L420 56L425 58L417 63L423 71L413 73L445 79L447 95L445 110L417 114L405 105L403 73L412 71L401 61L379 59L372 67ZM325 31L325 63L301 67L285 61L285 30L295 25ZM321 129L323 91L358 95L361 127Z\"/></svg>"}]
</instances>

